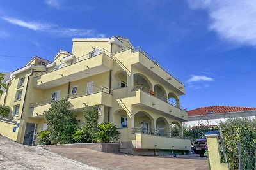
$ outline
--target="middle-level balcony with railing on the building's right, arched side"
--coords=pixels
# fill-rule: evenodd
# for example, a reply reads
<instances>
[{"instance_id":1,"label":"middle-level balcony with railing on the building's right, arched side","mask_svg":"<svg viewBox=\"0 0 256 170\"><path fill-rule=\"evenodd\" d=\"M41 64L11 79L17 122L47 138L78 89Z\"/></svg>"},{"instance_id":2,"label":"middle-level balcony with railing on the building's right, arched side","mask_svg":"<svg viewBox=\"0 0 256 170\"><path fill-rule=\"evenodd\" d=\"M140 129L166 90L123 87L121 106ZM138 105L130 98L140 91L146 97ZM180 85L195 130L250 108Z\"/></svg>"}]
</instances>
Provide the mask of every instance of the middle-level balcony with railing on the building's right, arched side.
<instances>
[{"instance_id":1,"label":"middle-level balcony with railing on the building's right, arched side","mask_svg":"<svg viewBox=\"0 0 256 170\"><path fill-rule=\"evenodd\" d=\"M154 109L157 112L172 115L182 121L188 120L188 113L183 106L173 103L166 97L161 96L156 92L152 92L142 85L136 85L132 90L136 92L136 99L134 99L134 104L136 106Z\"/></svg>"}]
</instances>

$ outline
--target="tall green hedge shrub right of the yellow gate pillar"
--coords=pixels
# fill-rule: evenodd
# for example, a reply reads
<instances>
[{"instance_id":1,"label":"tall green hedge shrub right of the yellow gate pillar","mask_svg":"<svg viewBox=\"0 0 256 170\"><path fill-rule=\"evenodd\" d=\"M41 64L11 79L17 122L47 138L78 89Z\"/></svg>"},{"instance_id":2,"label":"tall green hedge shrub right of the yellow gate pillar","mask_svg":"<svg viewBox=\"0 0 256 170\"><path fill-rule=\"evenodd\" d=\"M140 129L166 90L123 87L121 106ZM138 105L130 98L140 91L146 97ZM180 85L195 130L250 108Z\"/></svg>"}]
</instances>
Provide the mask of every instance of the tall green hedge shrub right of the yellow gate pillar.
<instances>
[{"instance_id":1,"label":"tall green hedge shrub right of the yellow gate pillar","mask_svg":"<svg viewBox=\"0 0 256 170\"><path fill-rule=\"evenodd\" d=\"M253 169L252 155L256 149L256 120L248 118L231 118L220 122L219 126L223 132L227 160L230 169L238 169L238 142L241 142L241 157L243 169ZM255 157L255 155L254 155ZM255 158L256 159L256 158Z\"/></svg>"}]
</instances>

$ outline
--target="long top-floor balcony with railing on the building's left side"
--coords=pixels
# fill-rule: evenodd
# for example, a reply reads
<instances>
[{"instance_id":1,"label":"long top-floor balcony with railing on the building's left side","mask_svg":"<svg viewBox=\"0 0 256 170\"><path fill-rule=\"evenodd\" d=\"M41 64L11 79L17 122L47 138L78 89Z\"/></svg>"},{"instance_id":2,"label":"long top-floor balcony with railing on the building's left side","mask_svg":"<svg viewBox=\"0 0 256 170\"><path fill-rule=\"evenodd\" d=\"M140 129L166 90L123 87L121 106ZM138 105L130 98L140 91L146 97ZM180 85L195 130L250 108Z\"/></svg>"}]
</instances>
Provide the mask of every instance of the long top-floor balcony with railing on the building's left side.
<instances>
[{"instance_id":1,"label":"long top-floor balcony with railing on the building's left side","mask_svg":"<svg viewBox=\"0 0 256 170\"><path fill-rule=\"evenodd\" d=\"M113 59L110 56L107 50L101 49L94 55L88 53L58 66L50 67L47 71L35 73L33 85L38 89L49 89L70 81L104 73L113 69Z\"/></svg>"}]
</instances>

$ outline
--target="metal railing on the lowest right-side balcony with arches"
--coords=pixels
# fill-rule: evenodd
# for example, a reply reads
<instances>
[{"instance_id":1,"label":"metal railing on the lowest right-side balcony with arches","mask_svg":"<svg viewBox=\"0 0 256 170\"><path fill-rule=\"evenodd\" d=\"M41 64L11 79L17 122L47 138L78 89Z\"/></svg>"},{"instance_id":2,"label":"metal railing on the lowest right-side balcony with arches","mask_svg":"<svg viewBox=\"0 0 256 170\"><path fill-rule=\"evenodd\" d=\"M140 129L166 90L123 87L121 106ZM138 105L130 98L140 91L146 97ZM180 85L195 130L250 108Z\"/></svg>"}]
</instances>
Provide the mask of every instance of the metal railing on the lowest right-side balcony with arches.
<instances>
[{"instance_id":1,"label":"metal railing on the lowest right-side balcony with arches","mask_svg":"<svg viewBox=\"0 0 256 170\"><path fill-rule=\"evenodd\" d=\"M132 134L151 134L155 136L164 136L169 138L189 139L189 136L184 136L178 133L167 132L158 129L150 129L146 127L133 127Z\"/></svg>"}]
</instances>

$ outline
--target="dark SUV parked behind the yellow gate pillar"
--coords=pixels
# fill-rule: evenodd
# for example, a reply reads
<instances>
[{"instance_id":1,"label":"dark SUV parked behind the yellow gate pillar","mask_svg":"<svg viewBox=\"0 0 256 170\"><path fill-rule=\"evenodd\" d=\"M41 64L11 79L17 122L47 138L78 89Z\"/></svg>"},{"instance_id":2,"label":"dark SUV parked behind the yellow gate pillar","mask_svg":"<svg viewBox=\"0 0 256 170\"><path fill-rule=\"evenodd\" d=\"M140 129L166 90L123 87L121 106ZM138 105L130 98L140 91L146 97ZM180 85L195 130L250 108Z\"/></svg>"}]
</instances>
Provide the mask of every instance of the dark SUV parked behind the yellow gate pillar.
<instances>
[{"instance_id":1,"label":"dark SUV parked behind the yellow gate pillar","mask_svg":"<svg viewBox=\"0 0 256 170\"><path fill-rule=\"evenodd\" d=\"M193 151L196 154L199 154L200 157L204 157L204 153L207 150L207 141L206 141L206 137L205 137L205 135L207 135L207 134L218 134L220 136L219 131L209 131L209 132L206 132L200 139L196 139L194 141Z\"/></svg>"}]
</instances>

